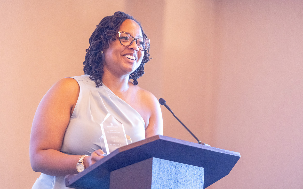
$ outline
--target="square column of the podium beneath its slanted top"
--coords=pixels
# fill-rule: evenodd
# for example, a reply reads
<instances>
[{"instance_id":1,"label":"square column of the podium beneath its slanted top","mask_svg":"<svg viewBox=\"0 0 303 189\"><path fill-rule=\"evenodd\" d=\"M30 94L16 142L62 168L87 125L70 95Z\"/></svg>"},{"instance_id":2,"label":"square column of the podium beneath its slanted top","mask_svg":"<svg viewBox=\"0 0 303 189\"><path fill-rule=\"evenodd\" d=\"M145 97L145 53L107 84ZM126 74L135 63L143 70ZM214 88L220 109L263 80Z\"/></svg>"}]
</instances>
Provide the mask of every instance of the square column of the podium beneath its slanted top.
<instances>
[{"instance_id":1,"label":"square column of the podium beneath its slanted top","mask_svg":"<svg viewBox=\"0 0 303 189\"><path fill-rule=\"evenodd\" d=\"M149 158L110 173L110 189L203 188L204 168Z\"/></svg>"}]
</instances>

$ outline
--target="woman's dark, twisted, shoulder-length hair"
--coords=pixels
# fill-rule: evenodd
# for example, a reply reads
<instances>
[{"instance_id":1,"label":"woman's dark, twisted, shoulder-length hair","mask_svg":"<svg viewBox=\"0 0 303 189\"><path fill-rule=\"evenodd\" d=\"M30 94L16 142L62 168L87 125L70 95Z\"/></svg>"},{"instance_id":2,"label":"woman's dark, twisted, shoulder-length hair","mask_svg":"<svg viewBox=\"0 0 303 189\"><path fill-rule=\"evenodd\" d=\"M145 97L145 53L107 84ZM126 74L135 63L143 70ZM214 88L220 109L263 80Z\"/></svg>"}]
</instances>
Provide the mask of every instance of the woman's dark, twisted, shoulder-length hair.
<instances>
[{"instance_id":1,"label":"woman's dark, twisted, shoulder-length hair","mask_svg":"<svg viewBox=\"0 0 303 189\"><path fill-rule=\"evenodd\" d=\"M109 47L109 40L115 41L115 34L118 32L120 25L126 19L133 20L138 23L141 28L143 37L146 37L146 34L143 32L141 24L136 21L132 16L125 14L124 12L115 12L112 16L107 16L101 20L97 25L97 28L92 33L92 36L89 38L89 47L86 49L84 64L84 73L90 75L89 78L94 80L96 87L102 85L102 75L103 71L103 60L102 60L102 49ZM141 50L139 50L141 51ZM143 60L140 66L133 73L129 75L129 79L134 80L134 85L138 84L137 79L144 74L144 65L149 59L149 47L148 50L144 51Z\"/></svg>"}]
</instances>

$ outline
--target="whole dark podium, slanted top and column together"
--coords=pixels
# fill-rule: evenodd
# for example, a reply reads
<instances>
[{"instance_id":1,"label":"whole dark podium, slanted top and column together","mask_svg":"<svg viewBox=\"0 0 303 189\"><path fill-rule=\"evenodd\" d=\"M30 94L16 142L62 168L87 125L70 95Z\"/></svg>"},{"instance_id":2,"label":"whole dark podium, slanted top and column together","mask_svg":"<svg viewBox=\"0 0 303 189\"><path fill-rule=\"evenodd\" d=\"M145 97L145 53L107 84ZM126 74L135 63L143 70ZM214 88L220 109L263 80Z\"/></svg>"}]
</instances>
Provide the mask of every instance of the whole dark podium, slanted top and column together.
<instances>
[{"instance_id":1,"label":"whole dark podium, slanted top and column together","mask_svg":"<svg viewBox=\"0 0 303 189\"><path fill-rule=\"evenodd\" d=\"M78 189L206 188L229 174L240 153L156 135L122 146L65 177Z\"/></svg>"}]
</instances>

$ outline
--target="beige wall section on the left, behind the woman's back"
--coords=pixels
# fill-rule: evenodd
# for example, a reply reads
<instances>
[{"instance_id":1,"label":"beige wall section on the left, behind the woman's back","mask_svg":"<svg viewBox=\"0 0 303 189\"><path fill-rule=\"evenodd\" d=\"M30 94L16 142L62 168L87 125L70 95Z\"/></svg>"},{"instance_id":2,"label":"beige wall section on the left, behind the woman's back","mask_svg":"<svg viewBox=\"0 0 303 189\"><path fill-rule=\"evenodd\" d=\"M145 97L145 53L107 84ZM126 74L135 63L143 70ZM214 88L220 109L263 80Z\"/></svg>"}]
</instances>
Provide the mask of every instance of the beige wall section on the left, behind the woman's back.
<instances>
[{"instance_id":1,"label":"beige wall section on the left, behind the woman's back","mask_svg":"<svg viewBox=\"0 0 303 189\"><path fill-rule=\"evenodd\" d=\"M82 75L88 38L124 1L0 2L0 188L31 188L29 135L38 103L59 79Z\"/></svg>"}]
</instances>

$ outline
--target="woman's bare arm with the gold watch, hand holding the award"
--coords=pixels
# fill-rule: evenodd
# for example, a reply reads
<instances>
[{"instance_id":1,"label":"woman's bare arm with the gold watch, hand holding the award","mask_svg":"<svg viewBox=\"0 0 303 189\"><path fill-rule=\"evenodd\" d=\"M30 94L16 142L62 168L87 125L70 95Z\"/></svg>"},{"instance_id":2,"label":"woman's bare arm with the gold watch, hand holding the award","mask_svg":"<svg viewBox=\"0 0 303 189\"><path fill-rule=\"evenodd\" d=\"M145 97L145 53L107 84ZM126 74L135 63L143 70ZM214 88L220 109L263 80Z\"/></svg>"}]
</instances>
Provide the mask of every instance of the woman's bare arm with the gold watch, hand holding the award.
<instances>
[{"instance_id":1,"label":"woman's bare arm with the gold watch, hand holding the award","mask_svg":"<svg viewBox=\"0 0 303 189\"><path fill-rule=\"evenodd\" d=\"M80 155L59 152L65 130L75 108L79 85L72 78L64 78L51 87L42 98L32 124L30 161L32 169L52 176L76 174ZM84 165L103 158L102 150L84 158Z\"/></svg>"}]
</instances>

